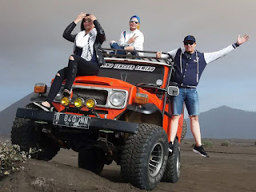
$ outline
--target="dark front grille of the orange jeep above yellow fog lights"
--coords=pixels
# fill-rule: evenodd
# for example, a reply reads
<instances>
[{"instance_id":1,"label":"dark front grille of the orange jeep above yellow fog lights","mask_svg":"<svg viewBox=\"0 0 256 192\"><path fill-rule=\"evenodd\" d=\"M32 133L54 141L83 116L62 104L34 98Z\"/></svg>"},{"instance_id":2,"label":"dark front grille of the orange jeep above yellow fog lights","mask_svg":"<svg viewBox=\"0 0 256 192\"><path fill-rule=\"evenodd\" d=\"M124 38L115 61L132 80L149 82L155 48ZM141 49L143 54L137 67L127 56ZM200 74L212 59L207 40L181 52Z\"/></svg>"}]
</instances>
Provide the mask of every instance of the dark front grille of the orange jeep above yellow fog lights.
<instances>
[{"instance_id":1,"label":"dark front grille of the orange jeep above yellow fog lights","mask_svg":"<svg viewBox=\"0 0 256 192\"><path fill-rule=\"evenodd\" d=\"M71 102L74 102L74 100L78 97L82 97L84 100L93 98L96 100L98 105L106 105L107 95L108 92L106 90L74 88Z\"/></svg>"}]
</instances>

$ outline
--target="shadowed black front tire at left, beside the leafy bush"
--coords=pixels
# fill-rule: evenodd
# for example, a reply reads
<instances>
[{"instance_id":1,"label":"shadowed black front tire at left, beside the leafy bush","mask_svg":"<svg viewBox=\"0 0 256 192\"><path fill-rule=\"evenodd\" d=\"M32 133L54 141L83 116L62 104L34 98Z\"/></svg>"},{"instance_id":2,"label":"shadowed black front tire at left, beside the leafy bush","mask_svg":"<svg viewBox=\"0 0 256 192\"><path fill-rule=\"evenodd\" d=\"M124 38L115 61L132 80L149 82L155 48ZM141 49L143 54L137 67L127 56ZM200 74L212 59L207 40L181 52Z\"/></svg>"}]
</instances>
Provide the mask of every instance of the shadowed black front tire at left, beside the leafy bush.
<instances>
[{"instance_id":1,"label":"shadowed black front tire at left, beside the leafy bush","mask_svg":"<svg viewBox=\"0 0 256 192\"><path fill-rule=\"evenodd\" d=\"M26 108L33 108L33 104L27 105ZM42 132L38 124L30 119L16 117L10 137L11 142L18 144L22 151L29 152L30 148L38 151L31 154L31 158L33 159L49 161L57 155L60 149L54 141Z\"/></svg>"}]
</instances>

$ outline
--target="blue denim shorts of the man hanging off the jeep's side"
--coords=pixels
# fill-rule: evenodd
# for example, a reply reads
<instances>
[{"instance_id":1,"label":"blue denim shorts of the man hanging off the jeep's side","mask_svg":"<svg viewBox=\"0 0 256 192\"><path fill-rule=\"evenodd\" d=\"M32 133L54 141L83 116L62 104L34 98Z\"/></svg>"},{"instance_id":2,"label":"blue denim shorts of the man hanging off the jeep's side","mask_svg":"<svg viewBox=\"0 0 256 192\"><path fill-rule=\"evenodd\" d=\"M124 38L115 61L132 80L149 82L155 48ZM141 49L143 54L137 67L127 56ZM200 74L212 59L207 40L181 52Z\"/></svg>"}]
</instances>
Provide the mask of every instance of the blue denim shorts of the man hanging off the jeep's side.
<instances>
[{"instance_id":1,"label":"blue denim shorts of the man hanging off the jeep's side","mask_svg":"<svg viewBox=\"0 0 256 192\"><path fill-rule=\"evenodd\" d=\"M182 114L184 102L186 104L186 110L189 113L189 116L198 116L199 99L196 88L179 88L178 96L170 97L173 116L179 116Z\"/></svg>"}]
</instances>

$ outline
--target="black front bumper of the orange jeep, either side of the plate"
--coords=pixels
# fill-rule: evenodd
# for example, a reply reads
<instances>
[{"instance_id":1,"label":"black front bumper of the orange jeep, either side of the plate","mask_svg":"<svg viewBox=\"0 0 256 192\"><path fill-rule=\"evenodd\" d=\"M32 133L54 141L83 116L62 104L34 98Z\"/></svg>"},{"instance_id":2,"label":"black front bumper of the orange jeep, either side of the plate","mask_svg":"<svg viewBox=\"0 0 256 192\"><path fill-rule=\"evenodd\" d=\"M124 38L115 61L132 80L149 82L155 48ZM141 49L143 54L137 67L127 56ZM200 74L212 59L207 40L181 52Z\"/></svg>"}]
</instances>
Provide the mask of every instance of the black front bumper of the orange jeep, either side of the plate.
<instances>
[{"instance_id":1,"label":"black front bumper of the orange jeep, either side of the plate","mask_svg":"<svg viewBox=\"0 0 256 192\"><path fill-rule=\"evenodd\" d=\"M18 108L16 117L26 118L31 120L45 121L53 123L55 112L45 112L34 109ZM74 127L75 128L75 127ZM120 120L107 120L97 117L90 117L90 130L105 130L105 131L121 131L134 134L138 129L138 123L130 123Z\"/></svg>"}]
</instances>

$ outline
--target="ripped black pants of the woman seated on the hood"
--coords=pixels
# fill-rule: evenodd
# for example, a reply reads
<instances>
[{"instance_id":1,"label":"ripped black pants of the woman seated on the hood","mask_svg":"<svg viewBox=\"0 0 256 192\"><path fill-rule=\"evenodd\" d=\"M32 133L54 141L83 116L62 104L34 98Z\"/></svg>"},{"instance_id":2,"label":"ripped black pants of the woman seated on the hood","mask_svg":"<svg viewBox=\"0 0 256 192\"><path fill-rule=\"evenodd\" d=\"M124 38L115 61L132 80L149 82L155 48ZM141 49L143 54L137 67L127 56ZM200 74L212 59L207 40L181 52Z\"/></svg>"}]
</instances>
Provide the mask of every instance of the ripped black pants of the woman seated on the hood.
<instances>
[{"instance_id":1,"label":"ripped black pants of the woman seated on the hood","mask_svg":"<svg viewBox=\"0 0 256 192\"><path fill-rule=\"evenodd\" d=\"M99 65L94 62L89 62L79 57L78 55L72 55L73 60L69 60L69 65L58 71L58 75L55 76L53 84L51 84L50 92L46 101L50 104L53 102L55 96L58 94L62 87L62 81L66 79L65 89L71 90L74 78L76 76L97 76Z\"/></svg>"}]
</instances>

